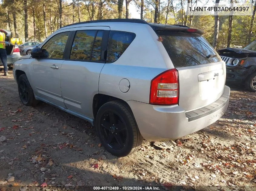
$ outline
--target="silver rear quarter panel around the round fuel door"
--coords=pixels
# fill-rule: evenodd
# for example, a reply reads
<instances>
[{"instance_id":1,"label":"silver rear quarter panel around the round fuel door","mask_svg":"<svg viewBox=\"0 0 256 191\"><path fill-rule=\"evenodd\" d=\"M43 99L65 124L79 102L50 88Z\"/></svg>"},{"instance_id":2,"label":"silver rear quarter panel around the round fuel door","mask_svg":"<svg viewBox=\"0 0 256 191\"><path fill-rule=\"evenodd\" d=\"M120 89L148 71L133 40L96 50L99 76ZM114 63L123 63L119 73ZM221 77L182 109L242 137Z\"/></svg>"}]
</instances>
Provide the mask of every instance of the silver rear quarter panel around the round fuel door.
<instances>
[{"instance_id":1,"label":"silver rear quarter panel around the round fuel door","mask_svg":"<svg viewBox=\"0 0 256 191\"><path fill-rule=\"evenodd\" d=\"M173 68L170 57L149 25L118 23L111 26L111 30L132 32L136 37L118 60L104 65L99 79L99 94L149 103L151 80L168 68ZM126 93L119 89L119 82L123 78L130 82L130 89Z\"/></svg>"}]
</instances>

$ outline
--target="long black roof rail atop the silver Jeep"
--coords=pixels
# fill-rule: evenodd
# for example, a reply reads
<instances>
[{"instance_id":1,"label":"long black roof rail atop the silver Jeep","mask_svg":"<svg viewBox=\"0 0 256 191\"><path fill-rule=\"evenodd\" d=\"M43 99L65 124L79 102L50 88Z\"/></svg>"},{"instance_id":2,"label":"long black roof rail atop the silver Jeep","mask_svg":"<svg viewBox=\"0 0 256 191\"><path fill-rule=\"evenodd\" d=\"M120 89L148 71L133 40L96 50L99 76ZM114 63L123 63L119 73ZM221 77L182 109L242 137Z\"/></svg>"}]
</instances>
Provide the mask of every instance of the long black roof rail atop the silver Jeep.
<instances>
[{"instance_id":1,"label":"long black roof rail atop the silver Jeep","mask_svg":"<svg viewBox=\"0 0 256 191\"><path fill-rule=\"evenodd\" d=\"M126 22L126 23L148 24L148 22L144 21L143 19L101 19L101 20L95 20L95 21L83 21L83 22L73 23L73 24L66 25L64 27L73 26L77 24L103 23L103 22Z\"/></svg>"}]
</instances>

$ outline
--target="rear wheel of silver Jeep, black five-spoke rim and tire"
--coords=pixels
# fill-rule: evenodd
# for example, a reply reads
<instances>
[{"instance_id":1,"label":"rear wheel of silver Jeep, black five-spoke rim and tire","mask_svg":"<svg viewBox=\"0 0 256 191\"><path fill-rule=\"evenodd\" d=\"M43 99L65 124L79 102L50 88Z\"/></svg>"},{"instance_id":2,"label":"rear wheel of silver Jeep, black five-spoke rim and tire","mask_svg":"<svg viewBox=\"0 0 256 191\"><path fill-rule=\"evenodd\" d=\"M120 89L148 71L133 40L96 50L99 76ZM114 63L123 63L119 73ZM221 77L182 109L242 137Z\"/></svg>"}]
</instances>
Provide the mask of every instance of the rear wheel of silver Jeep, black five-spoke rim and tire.
<instances>
[{"instance_id":1,"label":"rear wheel of silver Jeep, black five-spoke rim and tire","mask_svg":"<svg viewBox=\"0 0 256 191\"><path fill-rule=\"evenodd\" d=\"M115 117L110 117L112 115ZM111 118L116 122L115 126L110 125ZM105 124L109 124L110 127ZM96 131L101 144L117 157L124 157L137 151L143 140L131 110L120 101L110 101L100 107L96 116ZM120 142L124 145L120 146ZM120 148L117 148L118 146Z\"/></svg>"}]
</instances>

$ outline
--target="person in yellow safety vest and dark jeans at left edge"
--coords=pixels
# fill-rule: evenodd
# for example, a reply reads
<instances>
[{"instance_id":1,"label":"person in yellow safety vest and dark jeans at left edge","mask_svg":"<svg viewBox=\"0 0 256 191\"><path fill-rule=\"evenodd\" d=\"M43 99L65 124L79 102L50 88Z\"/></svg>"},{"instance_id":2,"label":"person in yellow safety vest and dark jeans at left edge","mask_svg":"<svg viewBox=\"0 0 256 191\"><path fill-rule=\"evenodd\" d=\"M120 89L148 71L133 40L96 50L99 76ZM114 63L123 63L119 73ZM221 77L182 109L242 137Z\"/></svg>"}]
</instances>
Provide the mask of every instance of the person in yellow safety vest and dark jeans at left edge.
<instances>
[{"instance_id":1,"label":"person in yellow safety vest and dark jeans at left edge","mask_svg":"<svg viewBox=\"0 0 256 191\"><path fill-rule=\"evenodd\" d=\"M8 67L7 67L7 54L5 49L5 36L7 32L0 29L0 59L4 66L4 75L8 76Z\"/></svg>"}]
</instances>

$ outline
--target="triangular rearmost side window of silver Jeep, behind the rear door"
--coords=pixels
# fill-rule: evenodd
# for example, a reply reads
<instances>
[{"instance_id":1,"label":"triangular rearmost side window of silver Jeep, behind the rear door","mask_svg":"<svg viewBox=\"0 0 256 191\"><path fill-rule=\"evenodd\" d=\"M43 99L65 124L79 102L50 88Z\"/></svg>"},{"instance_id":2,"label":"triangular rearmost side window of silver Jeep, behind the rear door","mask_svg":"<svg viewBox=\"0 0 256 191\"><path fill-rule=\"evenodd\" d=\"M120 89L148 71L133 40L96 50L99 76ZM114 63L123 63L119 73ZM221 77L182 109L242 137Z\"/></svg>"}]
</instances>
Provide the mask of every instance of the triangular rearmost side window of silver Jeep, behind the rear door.
<instances>
[{"instance_id":1,"label":"triangular rearmost side window of silver Jeep, behind the rear door","mask_svg":"<svg viewBox=\"0 0 256 191\"><path fill-rule=\"evenodd\" d=\"M111 30L108 38L107 62L115 62L135 38L135 33Z\"/></svg>"}]
</instances>

